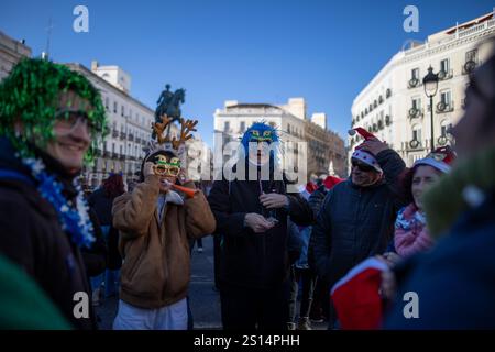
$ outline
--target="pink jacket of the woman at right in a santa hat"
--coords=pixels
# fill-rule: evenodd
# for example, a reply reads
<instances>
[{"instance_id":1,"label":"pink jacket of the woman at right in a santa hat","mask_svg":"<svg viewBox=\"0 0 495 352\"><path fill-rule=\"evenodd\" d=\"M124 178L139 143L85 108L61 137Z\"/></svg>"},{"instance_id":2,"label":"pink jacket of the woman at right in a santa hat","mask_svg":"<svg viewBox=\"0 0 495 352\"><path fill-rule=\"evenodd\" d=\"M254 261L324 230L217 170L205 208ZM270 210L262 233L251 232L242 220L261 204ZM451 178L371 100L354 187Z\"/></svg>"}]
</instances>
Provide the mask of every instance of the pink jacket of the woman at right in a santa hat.
<instances>
[{"instance_id":1,"label":"pink jacket of the woman at right in a santa hat","mask_svg":"<svg viewBox=\"0 0 495 352\"><path fill-rule=\"evenodd\" d=\"M418 212L415 204L410 204L398 212L395 222L394 244L397 254L400 256L424 252L433 245L425 218Z\"/></svg>"}]
</instances>

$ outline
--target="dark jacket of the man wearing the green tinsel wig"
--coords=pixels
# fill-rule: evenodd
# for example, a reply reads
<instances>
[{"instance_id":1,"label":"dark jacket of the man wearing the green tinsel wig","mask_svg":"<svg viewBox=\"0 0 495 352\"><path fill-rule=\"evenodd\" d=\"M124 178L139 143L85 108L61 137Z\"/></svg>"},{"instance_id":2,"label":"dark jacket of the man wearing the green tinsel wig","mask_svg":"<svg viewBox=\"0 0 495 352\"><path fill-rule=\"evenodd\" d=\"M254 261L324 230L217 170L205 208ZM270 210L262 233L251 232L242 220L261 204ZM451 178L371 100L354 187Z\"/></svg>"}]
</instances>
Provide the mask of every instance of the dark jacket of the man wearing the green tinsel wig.
<instances>
[{"instance_id":1,"label":"dark jacket of the man wearing the green tinsel wig","mask_svg":"<svg viewBox=\"0 0 495 352\"><path fill-rule=\"evenodd\" d=\"M15 170L30 179L30 172L14 156L11 143L0 139L0 169ZM45 158L47 167L62 172L55 161ZM34 179L31 178L31 182ZM75 190L67 185L67 196ZM94 329L91 295L79 249L62 230L53 206L41 197L30 182L0 178L0 253L31 275L74 327ZM76 319L73 300L77 292L89 296L90 318Z\"/></svg>"}]
</instances>

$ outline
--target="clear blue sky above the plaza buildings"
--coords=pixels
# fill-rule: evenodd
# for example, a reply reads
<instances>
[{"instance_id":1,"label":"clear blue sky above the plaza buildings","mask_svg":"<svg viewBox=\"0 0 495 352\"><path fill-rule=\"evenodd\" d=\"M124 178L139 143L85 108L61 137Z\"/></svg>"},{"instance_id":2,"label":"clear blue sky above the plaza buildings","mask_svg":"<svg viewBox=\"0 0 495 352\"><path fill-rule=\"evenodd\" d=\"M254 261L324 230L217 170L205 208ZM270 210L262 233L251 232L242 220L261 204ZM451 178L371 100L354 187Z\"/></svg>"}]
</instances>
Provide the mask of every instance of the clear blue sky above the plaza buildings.
<instances>
[{"instance_id":1,"label":"clear blue sky above the plaza buildings","mask_svg":"<svg viewBox=\"0 0 495 352\"><path fill-rule=\"evenodd\" d=\"M75 33L73 9L89 9L89 33ZM419 9L419 32L406 33L403 10ZM211 145L213 111L224 100L285 103L304 97L345 135L352 100L409 40L492 11L495 1L2 0L0 30L24 38L35 56L91 59L132 76L132 95L155 108L166 82L186 88L183 114L199 119Z\"/></svg>"}]
</instances>

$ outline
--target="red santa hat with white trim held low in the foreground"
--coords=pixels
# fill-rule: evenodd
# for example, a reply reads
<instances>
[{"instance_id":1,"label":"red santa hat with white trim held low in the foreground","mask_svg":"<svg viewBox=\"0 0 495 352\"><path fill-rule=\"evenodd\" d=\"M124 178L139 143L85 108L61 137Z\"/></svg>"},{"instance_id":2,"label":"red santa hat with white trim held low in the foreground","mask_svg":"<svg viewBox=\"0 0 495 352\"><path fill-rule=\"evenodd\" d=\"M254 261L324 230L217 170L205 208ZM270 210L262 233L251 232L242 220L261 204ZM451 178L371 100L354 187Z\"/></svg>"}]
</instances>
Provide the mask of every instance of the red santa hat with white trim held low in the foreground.
<instances>
[{"instance_id":1,"label":"red santa hat with white trim held low in the foreground","mask_svg":"<svg viewBox=\"0 0 495 352\"><path fill-rule=\"evenodd\" d=\"M378 290L384 271L388 271L385 263L370 257L332 287L331 299L343 330L381 327L383 304Z\"/></svg>"}]
</instances>

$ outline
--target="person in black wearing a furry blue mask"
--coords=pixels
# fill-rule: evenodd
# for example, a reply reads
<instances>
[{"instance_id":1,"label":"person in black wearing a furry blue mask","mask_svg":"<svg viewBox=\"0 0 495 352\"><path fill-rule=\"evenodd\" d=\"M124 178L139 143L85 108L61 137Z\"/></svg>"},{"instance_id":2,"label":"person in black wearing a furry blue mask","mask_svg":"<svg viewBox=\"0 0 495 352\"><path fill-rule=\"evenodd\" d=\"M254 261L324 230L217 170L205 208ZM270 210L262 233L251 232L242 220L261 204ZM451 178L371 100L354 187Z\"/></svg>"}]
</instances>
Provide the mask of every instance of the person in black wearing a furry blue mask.
<instances>
[{"instance_id":1,"label":"person in black wearing a furry blue mask","mask_svg":"<svg viewBox=\"0 0 495 352\"><path fill-rule=\"evenodd\" d=\"M217 180L208 197L221 237L219 288L226 330L284 330L288 321L287 222L308 226L312 212L277 179L277 131L254 123L241 141L245 178ZM268 173L263 167L270 165ZM250 177L251 175L255 177ZM238 169L234 169L238 172Z\"/></svg>"}]
</instances>

